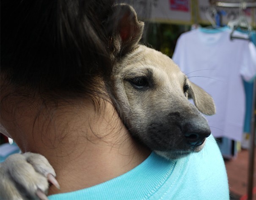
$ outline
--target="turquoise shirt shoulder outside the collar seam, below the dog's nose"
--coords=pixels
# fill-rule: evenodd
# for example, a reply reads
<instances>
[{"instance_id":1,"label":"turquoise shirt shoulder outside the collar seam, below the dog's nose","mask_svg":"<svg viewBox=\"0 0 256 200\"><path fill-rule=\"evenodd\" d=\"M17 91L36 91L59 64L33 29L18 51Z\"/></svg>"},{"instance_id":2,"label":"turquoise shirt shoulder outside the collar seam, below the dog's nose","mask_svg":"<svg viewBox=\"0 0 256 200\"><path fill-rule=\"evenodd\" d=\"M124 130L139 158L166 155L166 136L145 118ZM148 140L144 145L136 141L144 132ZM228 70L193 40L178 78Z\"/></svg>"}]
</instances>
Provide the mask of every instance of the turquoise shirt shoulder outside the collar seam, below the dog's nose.
<instances>
[{"instance_id":1,"label":"turquoise shirt shoulder outside the collar seam, below the dog's nose","mask_svg":"<svg viewBox=\"0 0 256 200\"><path fill-rule=\"evenodd\" d=\"M176 160L170 176L150 199L228 199L228 194L223 157L210 136L200 152Z\"/></svg>"}]
</instances>

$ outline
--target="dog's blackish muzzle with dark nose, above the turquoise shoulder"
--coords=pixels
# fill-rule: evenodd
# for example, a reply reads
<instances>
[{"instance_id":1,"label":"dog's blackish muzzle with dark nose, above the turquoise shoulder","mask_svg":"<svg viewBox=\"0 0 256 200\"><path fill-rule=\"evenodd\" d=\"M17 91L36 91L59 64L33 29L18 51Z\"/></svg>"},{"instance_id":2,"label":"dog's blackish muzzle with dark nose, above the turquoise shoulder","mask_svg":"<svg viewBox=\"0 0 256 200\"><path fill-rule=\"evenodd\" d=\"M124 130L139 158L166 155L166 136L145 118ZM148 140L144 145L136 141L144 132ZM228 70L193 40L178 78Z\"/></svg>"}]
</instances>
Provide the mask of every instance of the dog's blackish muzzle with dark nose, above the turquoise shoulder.
<instances>
[{"instance_id":1,"label":"dog's blackish muzzle with dark nose, above the turquoise shoulder","mask_svg":"<svg viewBox=\"0 0 256 200\"><path fill-rule=\"evenodd\" d=\"M200 151L210 134L207 120L201 114L191 117L169 113L149 124L143 142L154 151L179 152L182 155Z\"/></svg>"}]
</instances>

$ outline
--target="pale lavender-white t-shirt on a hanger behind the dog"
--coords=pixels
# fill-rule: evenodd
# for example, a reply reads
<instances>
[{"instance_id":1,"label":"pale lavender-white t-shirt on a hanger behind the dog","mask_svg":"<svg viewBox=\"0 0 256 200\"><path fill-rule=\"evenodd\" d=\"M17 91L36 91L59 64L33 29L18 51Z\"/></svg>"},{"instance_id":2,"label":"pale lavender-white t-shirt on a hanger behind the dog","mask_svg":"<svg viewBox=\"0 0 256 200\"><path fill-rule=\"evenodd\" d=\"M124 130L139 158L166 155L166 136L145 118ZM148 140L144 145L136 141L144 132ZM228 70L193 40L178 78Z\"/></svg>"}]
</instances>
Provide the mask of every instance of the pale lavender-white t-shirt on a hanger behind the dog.
<instances>
[{"instance_id":1,"label":"pale lavender-white t-shirt on a hanger behind the dog","mask_svg":"<svg viewBox=\"0 0 256 200\"><path fill-rule=\"evenodd\" d=\"M216 115L206 116L213 136L241 141L245 115L243 79L250 81L256 75L256 48L247 40L230 40L230 33L227 28L183 33L173 61L213 97Z\"/></svg>"}]
</instances>

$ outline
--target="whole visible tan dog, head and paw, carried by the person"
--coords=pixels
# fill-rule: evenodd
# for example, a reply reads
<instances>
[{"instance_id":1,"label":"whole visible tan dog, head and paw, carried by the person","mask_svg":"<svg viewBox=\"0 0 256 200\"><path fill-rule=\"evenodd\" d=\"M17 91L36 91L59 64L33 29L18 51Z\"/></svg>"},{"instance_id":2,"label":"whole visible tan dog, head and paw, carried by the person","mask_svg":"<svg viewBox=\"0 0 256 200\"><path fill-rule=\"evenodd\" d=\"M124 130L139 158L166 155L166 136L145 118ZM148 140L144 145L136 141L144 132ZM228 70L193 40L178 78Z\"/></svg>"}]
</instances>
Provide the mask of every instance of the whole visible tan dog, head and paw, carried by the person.
<instances>
[{"instance_id":1,"label":"whole visible tan dog, head and paw, carried by the person","mask_svg":"<svg viewBox=\"0 0 256 200\"><path fill-rule=\"evenodd\" d=\"M124 125L133 137L167 159L201 151L211 133L201 113L215 114L212 97L190 82L168 56L139 44L144 23L132 7L116 5L114 13L119 20L112 26L114 69L107 85ZM45 157L33 153L10 156L1 163L0 173L1 198L14 199L20 194L44 199L47 174L55 176Z\"/></svg>"}]
</instances>

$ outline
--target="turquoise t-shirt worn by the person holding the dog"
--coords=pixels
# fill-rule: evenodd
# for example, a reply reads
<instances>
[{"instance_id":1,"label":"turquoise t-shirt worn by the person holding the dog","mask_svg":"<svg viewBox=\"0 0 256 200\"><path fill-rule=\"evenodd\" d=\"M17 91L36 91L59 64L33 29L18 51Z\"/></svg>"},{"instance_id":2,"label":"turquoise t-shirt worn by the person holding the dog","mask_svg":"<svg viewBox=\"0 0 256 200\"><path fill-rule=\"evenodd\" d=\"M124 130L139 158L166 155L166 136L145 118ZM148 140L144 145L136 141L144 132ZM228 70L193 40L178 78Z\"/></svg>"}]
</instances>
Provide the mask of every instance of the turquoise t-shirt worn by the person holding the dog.
<instances>
[{"instance_id":1,"label":"turquoise t-shirt worn by the person holding the dog","mask_svg":"<svg viewBox=\"0 0 256 200\"><path fill-rule=\"evenodd\" d=\"M50 200L228 200L228 179L213 136L201 152L166 160L154 152L143 163L93 187Z\"/></svg>"}]
</instances>

